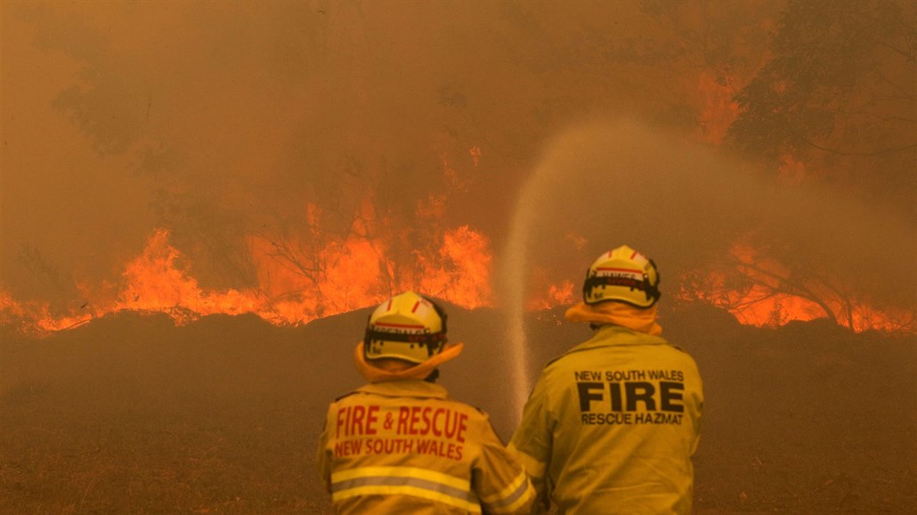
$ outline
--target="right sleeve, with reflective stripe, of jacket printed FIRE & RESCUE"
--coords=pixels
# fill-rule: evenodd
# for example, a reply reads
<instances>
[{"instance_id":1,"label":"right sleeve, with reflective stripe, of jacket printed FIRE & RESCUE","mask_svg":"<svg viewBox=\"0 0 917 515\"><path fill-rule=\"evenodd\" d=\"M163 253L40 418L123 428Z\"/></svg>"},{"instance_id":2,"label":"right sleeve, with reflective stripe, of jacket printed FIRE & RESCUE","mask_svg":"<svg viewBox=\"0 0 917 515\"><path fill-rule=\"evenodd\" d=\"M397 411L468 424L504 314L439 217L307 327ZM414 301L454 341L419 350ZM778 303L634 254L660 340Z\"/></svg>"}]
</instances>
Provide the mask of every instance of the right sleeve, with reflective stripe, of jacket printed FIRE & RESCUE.
<instances>
[{"instance_id":1,"label":"right sleeve, with reflective stripe, of jacket printed FIRE & RESCUE","mask_svg":"<svg viewBox=\"0 0 917 515\"><path fill-rule=\"evenodd\" d=\"M481 510L484 513L530 513L535 489L523 466L516 462L494 433L490 418L487 415L484 417L481 456L471 474L472 488L481 499Z\"/></svg>"}]
</instances>

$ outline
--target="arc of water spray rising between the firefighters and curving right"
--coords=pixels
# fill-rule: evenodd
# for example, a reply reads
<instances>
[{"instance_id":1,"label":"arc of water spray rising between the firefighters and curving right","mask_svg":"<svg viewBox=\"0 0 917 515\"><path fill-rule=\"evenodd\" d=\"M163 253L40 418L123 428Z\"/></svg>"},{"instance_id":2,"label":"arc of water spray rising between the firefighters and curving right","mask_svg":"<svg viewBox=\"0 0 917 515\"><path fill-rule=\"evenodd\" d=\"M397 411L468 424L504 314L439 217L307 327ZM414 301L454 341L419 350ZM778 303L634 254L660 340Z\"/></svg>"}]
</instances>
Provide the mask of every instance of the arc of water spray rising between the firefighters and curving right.
<instances>
[{"instance_id":1,"label":"arc of water spray rising between the firefighters and curving right","mask_svg":"<svg viewBox=\"0 0 917 515\"><path fill-rule=\"evenodd\" d=\"M522 413L531 390L525 334L529 268L563 250L539 242L558 245L570 224L585 234L642 242L641 248L653 248L672 270L668 277L705 266L711 249L724 252L749 231L779 236L776 241L793 246L801 263L824 263L826 270L851 277L860 273L861 257L837 248L881 249L872 255L881 259L879 268L903 267L910 275L861 284L877 299L913 298L907 289L912 281L897 279L914 277L917 263L917 247L902 245L913 241L906 221L830 189L780 186L721 150L657 126L630 119L570 126L547 142L536 163L519 191L500 267L514 416ZM662 208L646 209L647 199Z\"/></svg>"}]
</instances>

